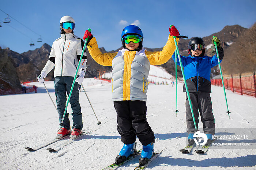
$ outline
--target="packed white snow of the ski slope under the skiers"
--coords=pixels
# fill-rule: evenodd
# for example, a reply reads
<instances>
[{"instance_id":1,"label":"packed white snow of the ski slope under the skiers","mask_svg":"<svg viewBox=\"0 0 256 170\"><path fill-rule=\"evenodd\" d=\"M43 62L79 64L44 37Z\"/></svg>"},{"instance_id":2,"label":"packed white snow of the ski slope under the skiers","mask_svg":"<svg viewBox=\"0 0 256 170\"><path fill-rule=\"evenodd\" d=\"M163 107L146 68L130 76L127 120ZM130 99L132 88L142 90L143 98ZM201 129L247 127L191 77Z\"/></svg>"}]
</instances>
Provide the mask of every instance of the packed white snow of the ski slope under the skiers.
<instances>
[{"instance_id":1,"label":"packed white snow of the ski slope under the skiers","mask_svg":"<svg viewBox=\"0 0 256 170\"><path fill-rule=\"evenodd\" d=\"M155 70L154 68L152 71ZM164 70L158 68L152 81L172 81L172 77L162 78ZM151 74L151 73L150 73ZM160 78L159 78L160 77ZM169 80L170 79L170 80ZM173 78L175 79L175 77ZM83 131L89 132L74 140L58 152L49 152L47 147L35 152L25 150L25 147L38 146L48 140L54 139L59 129L58 113L50 100L43 84L37 85L37 93L15 94L0 96L0 169L103 169L114 162L123 143L117 132L116 111L111 101L111 83L84 79L83 85L91 101L93 109L102 123L97 125L97 119L81 88L80 105L83 113ZM45 82L46 87L56 102L54 94L54 82ZM148 165L147 169L256 169L256 145L255 136L251 149L234 148L210 149L204 155L191 151L190 154L182 154L180 149L186 143L186 119L185 119L185 93L182 92L182 83L178 83L178 113L176 117L176 88L168 83L153 84L147 92L147 120L155 134L155 152L162 151L161 155ZM256 98L241 96L226 90L230 119L223 88L212 86L212 107L216 123L216 134L221 134L221 128L234 128L249 130L249 134L255 134L256 129ZM72 110L68 106L69 119L72 126ZM200 119L199 119L200 120ZM202 128L202 123L199 123ZM252 136L250 136L251 138ZM54 148L67 139L53 143ZM254 143L254 144L253 144ZM137 139L138 150L142 148ZM125 163L119 170L131 170L138 165L139 157L129 163Z\"/></svg>"}]
</instances>

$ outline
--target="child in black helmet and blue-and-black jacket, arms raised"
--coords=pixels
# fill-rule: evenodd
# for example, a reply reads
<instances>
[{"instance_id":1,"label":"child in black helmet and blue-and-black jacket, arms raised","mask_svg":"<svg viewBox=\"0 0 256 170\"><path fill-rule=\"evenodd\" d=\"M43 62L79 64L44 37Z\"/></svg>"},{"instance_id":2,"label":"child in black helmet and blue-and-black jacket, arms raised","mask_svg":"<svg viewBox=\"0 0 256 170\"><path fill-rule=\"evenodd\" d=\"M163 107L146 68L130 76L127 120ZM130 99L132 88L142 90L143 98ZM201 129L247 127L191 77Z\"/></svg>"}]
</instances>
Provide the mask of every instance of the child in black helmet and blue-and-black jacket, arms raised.
<instances>
[{"instance_id":1,"label":"child in black helmet and blue-and-black jacket, arms raised","mask_svg":"<svg viewBox=\"0 0 256 170\"><path fill-rule=\"evenodd\" d=\"M218 46L219 59L222 61L224 57L224 51L221 47L220 40L215 36L212 39ZM192 38L188 43L188 57L181 56L181 62L184 67L185 79L188 85L189 96L193 107L193 113L195 116L196 126L199 123L199 112L201 121L203 123L204 133L207 135L210 143L212 136L215 134L215 122L212 113L211 104L211 68L218 65L217 56L212 57L205 56L205 43L202 38ZM175 62L175 53L173 54L173 60ZM180 62L177 61L180 65ZM185 84L183 86L183 92L186 92ZM198 112L199 110L199 112ZM193 123L193 117L191 109L189 107L188 96L186 95L186 119L188 128L188 142L193 144L193 135L196 132L195 125Z\"/></svg>"}]
</instances>

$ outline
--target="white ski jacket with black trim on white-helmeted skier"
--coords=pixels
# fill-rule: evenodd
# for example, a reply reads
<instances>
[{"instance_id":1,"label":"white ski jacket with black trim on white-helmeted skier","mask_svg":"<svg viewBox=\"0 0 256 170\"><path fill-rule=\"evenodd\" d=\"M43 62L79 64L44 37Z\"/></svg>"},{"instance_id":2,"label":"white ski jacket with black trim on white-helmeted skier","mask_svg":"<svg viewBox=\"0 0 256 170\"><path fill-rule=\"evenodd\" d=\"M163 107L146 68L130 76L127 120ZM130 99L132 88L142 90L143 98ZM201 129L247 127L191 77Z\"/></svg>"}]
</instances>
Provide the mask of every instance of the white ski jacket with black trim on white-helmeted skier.
<instances>
[{"instance_id":1,"label":"white ski jacket with black trim on white-helmeted skier","mask_svg":"<svg viewBox=\"0 0 256 170\"><path fill-rule=\"evenodd\" d=\"M83 46L83 40L73 33L61 34L61 37L53 42L49 60L41 72L48 74L55 66L54 77L74 77ZM84 51L79 70L86 71L86 62L86 52Z\"/></svg>"}]
</instances>

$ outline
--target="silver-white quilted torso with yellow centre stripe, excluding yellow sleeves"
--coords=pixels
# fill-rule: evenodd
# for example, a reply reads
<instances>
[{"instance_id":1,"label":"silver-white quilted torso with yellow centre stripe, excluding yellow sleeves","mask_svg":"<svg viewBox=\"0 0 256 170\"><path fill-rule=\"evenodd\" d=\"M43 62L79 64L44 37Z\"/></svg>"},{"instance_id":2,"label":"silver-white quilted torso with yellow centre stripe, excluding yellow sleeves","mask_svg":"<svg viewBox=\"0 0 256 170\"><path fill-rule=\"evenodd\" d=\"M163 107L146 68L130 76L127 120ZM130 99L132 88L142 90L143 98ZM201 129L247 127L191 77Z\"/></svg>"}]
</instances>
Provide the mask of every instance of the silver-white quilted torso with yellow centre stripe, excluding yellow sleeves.
<instances>
[{"instance_id":1,"label":"silver-white quilted torso with yellow centre stripe, excluding yellow sleeves","mask_svg":"<svg viewBox=\"0 0 256 170\"><path fill-rule=\"evenodd\" d=\"M150 62L144 53L145 49L136 51L135 57L134 55L124 57L125 54L132 52L125 53L125 51L128 50L119 50L112 61L112 100L147 101Z\"/></svg>"}]
</instances>

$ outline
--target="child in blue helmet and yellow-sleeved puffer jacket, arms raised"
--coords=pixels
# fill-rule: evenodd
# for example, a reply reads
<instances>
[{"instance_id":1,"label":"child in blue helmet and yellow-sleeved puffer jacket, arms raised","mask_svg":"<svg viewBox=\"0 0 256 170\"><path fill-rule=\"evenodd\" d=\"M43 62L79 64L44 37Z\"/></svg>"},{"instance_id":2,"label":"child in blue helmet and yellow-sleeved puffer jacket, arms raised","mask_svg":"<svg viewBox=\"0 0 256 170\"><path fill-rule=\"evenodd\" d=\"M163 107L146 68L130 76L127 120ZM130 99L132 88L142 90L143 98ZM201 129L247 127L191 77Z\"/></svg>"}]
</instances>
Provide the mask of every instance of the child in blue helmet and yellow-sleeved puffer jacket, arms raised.
<instances>
[{"instance_id":1,"label":"child in blue helmet and yellow-sleeved puffer jacket, arms raised","mask_svg":"<svg viewBox=\"0 0 256 170\"><path fill-rule=\"evenodd\" d=\"M170 35L179 35L172 26ZM143 48L143 34L138 26L129 25L121 34L123 49L117 53L102 54L93 35L86 31L88 50L93 59L104 66L112 66L112 100L117 112L117 131L124 143L116 162L120 163L136 151L136 136L142 143L139 159L144 165L154 153L155 136L146 118L147 113L147 77L150 65L166 63L175 50L172 36L169 36L162 51L150 52Z\"/></svg>"}]
</instances>

